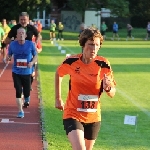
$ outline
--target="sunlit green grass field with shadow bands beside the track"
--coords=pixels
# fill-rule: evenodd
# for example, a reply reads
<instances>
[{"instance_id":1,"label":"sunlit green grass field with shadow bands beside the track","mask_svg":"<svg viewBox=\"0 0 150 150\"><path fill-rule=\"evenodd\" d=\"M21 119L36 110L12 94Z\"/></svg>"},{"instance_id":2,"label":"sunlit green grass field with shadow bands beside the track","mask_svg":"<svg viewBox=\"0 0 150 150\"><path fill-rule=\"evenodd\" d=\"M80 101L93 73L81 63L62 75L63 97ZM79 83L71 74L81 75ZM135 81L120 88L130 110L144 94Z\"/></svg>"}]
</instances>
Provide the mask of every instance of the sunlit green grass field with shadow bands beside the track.
<instances>
[{"instance_id":1,"label":"sunlit green grass field with shadow bands beside the track","mask_svg":"<svg viewBox=\"0 0 150 150\"><path fill-rule=\"evenodd\" d=\"M81 52L77 40L57 44L66 53ZM63 130L62 112L54 107L54 75L66 55L61 54L58 45L43 40L43 51L38 56L45 138L48 150L71 150ZM150 150L149 41L104 41L99 55L111 62L117 92L113 99L102 95L102 125L94 150ZM65 101L68 77L63 80L62 91ZM138 116L137 126L125 125L125 115Z\"/></svg>"}]
</instances>

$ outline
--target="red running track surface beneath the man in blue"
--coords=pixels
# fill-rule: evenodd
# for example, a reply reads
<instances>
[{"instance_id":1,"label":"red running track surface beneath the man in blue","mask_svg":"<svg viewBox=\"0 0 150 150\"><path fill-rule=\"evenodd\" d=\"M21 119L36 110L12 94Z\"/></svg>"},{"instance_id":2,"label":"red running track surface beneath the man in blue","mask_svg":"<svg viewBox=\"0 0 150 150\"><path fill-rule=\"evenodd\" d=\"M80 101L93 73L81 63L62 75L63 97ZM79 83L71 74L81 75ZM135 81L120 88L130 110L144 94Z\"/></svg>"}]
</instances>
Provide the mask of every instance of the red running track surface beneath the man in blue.
<instances>
[{"instance_id":1,"label":"red running track surface beneath the man in blue","mask_svg":"<svg viewBox=\"0 0 150 150\"><path fill-rule=\"evenodd\" d=\"M42 150L39 99L37 81L33 81L31 101L24 108L25 117L18 113L10 63L4 73L5 64L0 57L0 150Z\"/></svg>"}]
</instances>

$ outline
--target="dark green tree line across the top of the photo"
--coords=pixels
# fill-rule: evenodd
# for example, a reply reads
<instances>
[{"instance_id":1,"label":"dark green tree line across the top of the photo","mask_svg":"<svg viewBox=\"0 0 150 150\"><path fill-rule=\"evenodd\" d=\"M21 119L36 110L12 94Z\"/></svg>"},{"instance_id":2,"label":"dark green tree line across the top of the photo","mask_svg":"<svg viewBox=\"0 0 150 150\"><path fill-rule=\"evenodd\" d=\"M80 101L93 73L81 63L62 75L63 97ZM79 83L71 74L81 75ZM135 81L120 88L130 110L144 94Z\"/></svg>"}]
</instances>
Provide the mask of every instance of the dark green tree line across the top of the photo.
<instances>
[{"instance_id":1,"label":"dark green tree line across the top of the photo","mask_svg":"<svg viewBox=\"0 0 150 150\"><path fill-rule=\"evenodd\" d=\"M150 0L0 0L0 4L0 19L7 20L17 20L22 11L27 11L31 18L36 17L37 9L51 13L53 5L57 5L59 10L80 13L83 20L85 10L89 8L108 8L118 17L131 18L135 25L139 24L138 20L140 23L150 21Z\"/></svg>"}]
</instances>

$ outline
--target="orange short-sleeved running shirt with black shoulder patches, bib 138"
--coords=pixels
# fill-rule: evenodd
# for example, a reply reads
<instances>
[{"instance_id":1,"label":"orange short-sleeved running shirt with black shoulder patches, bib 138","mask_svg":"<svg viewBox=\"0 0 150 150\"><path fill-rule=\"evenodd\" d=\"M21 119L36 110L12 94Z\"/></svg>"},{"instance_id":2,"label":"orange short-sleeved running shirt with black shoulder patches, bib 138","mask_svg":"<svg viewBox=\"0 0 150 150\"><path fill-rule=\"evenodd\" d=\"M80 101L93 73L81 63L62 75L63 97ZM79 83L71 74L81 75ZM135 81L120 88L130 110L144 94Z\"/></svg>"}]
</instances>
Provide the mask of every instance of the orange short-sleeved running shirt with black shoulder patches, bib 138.
<instances>
[{"instance_id":1,"label":"orange short-sleeved running shirt with black shoulder patches, bib 138","mask_svg":"<svg viewBox=\"0 0 150 150\"><path fill-rule=\"evenodd\" d=\"M103 92L104 74L113 78L108 60L96 56L94 61L84 64L82 54L68 57L57 69L60 77L70 75L69 92L63 119L73 118L80 122L101 121L100 96ZM115 81L113 80L115 85Z\"/></svg>"}]
</instances>

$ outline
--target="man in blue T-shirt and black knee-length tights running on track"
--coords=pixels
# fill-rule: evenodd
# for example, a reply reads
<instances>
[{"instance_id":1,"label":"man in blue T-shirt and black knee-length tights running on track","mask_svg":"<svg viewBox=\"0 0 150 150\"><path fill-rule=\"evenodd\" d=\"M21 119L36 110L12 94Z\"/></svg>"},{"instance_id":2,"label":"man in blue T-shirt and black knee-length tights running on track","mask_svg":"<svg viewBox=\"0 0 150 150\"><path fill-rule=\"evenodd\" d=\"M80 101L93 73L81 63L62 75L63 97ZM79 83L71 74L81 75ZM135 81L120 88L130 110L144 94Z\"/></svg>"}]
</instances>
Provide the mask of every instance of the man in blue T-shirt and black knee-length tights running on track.
<instances>
[{"instance_id":1,"label":"man in blue T-shirt and black knee-length tights running on track","mask_svg":"<svg viewBox=\"0 0 150 150\"><path fill-rule=\"evenodd\" d=\"M13 55L12 77L16 90L16 102L18 106L18 118L24 117L22 108L22 89L24 94L23 107L29 106L30 86L32 68L37 61L35 45L32 41L25 40L26 30L23 27L17 29L17 38L9 45L7 60L10 61Z\"/></svg>"}]
</instances>

